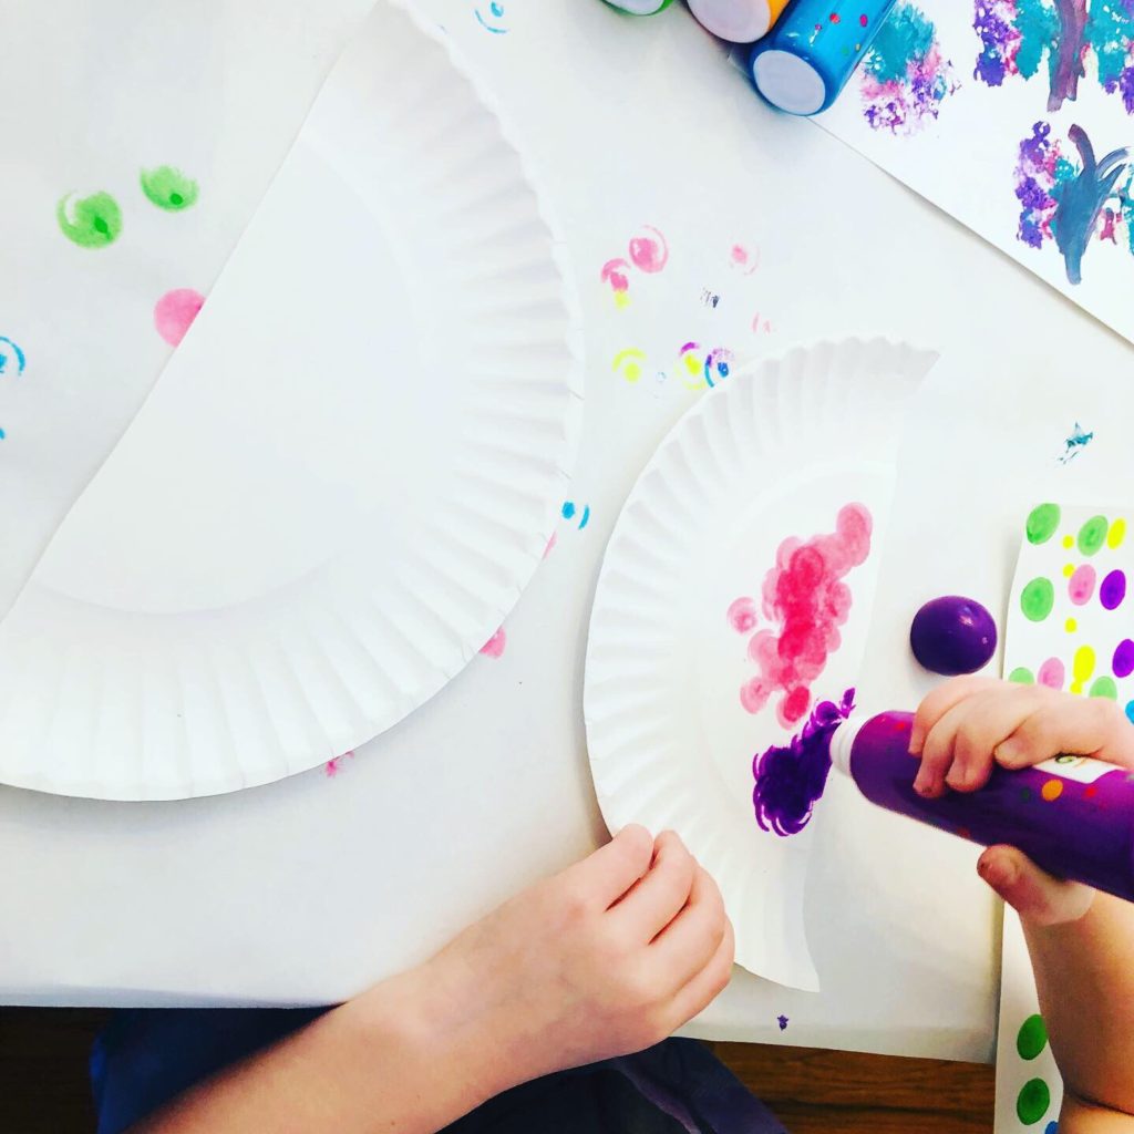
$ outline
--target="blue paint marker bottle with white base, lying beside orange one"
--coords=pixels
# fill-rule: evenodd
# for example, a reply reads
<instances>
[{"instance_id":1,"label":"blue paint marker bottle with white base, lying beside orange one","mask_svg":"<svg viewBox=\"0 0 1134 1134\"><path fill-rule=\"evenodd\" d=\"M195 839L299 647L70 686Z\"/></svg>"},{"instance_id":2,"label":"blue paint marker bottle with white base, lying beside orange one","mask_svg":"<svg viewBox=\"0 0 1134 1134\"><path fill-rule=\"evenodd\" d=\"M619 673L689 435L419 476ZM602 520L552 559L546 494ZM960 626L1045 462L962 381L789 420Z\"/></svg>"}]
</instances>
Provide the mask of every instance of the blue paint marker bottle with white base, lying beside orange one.
<instances>
[{"instance_id":1,"label":"blue paint marker bottle with white base, lying beside orange one","mask_svg":"<svg viewBox=\"0 0 1134 1134\"><path fill-rule=\"evenodd\" d=\"M795 0L752 49L756 90L790 115L818 115L838 98L895 0Z\"/></svg>"}]
</instances>

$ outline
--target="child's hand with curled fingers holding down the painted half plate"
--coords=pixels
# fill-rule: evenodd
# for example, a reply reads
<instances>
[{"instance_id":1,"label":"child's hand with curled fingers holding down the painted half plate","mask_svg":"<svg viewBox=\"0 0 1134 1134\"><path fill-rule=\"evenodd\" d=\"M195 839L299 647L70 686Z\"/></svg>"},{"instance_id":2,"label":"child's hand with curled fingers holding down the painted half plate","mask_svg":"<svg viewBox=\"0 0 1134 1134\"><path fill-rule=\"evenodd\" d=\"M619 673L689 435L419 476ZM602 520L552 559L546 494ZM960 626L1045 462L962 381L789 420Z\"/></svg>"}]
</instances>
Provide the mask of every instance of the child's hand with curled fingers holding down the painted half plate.
<instances>
[{"instance_id":1,"label":"child's hand with curled fingers holding down the painted half plate","mask_svg":"<svg viewBox=\"0 0 1134 1134\"><path fill-rule=\"evenodd\" d=\"M728 983L733 929L682 840L627 827L422 970L483 1023L503 1086L660 1042Z\"/></svg>"}]
</instances>

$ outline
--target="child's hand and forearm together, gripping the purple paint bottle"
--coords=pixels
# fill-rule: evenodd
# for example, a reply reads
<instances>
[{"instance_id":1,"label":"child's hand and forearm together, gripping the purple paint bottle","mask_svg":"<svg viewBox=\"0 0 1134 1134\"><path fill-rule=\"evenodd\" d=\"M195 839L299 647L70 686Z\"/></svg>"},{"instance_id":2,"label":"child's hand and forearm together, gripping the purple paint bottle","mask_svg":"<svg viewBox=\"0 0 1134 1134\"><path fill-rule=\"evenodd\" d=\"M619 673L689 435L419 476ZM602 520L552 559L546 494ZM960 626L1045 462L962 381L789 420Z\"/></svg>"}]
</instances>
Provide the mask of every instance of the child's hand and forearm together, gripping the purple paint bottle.
<instances>
[{"instance_id":1,"label":"child's hand and forearm together, gripping the purple paint bottle","mask_svg":"<svg viewBox=\"0 0 1134 1134\"><path fill-rule=\"evenodd\" d=\"M1102 697L962 677L914 720L915 786L975 792L992 771L1060 753L1134 768L1134 727ZM1064 1076L1059 1129L1134 1131L1134 905L1043 873L1013 847L989 847L981 877L1019 911L1051 1050Z\"/></svg>"}]
</instances>

